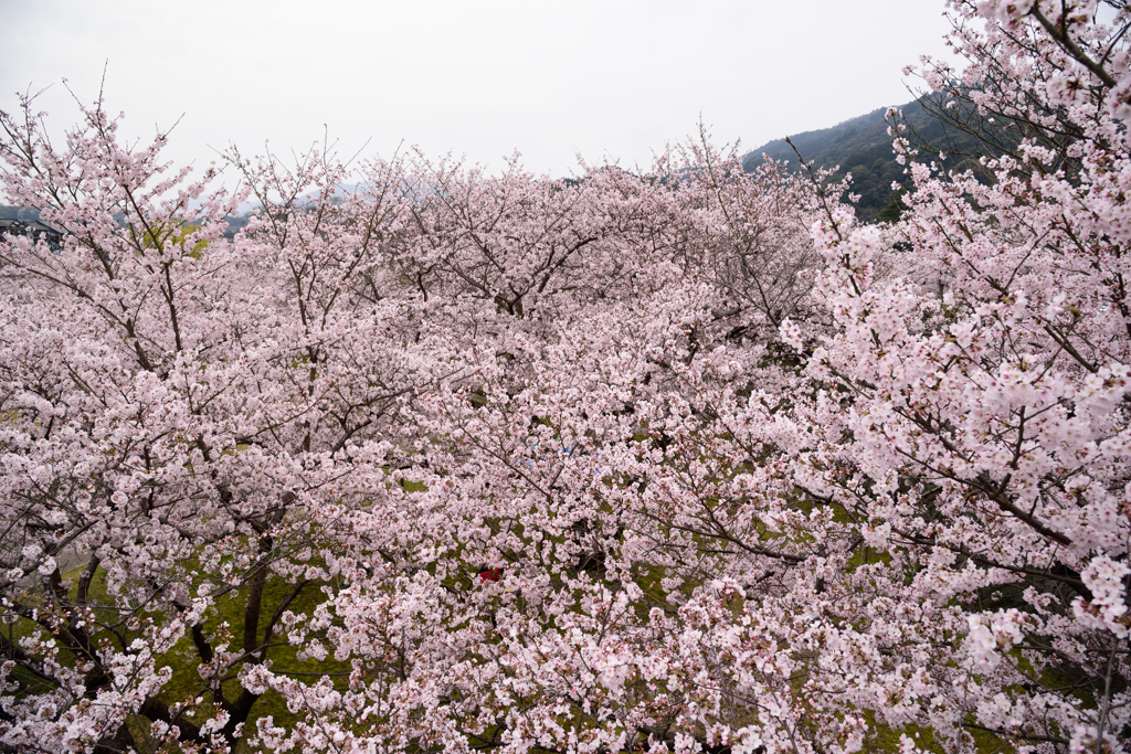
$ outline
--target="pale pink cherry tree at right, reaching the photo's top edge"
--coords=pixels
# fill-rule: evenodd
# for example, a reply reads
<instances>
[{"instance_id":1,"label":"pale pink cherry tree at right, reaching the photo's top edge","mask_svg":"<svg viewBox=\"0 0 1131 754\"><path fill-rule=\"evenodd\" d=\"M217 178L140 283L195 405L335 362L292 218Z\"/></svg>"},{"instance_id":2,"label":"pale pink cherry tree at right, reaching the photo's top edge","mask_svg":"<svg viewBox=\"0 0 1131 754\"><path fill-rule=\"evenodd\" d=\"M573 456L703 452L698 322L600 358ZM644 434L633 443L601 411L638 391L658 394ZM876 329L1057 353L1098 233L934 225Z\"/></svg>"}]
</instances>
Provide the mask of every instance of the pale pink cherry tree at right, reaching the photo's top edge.
<instances>
[{"instance_id":1,"label":"pale pink cherry tree at right, reaching the photo's top edge","mask_svg":"<svg viewBox=\"0 0 1131 754\"><path fill-rule=\"evenodd\" d=\"M941 297L877 275L882 233L832 209L817 292L837 327L795 340L820 391L792 444L798 488L883 557L854 564L871 593L837 600L852 625L823 643L830 669L873 661L828 690L955 748L983 731L1123 751L1131 19L1122 3L1111 24L1096 3L951 9L969 66L929 62L925 78L996 113L1016 148L984 161L988 181L908 163L898 233Z\"/></svg>"}]
</instances>

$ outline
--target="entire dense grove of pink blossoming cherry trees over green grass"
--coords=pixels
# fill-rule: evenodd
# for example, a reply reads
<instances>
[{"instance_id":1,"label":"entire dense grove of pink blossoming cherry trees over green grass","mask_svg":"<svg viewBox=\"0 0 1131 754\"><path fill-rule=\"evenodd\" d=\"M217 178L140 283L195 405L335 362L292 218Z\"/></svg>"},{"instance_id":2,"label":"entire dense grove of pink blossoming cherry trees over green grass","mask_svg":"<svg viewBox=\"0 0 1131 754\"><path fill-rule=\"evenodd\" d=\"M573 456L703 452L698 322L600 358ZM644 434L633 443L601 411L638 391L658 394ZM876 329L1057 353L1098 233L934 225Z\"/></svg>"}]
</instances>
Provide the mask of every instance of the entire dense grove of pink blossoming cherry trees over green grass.
<instances>
[{"instance_id":1,"label":"entire dense grove of pink blossoming cherry trees over green grass","mask_svg":"<svg viewBox=\"0 0 1131 754\"><path fill-rule=\"evenodd\" d=\"M888 224L0 116L0 747L1126 752L1131 9L949 12Z\"/></svg>"}]
</instances>

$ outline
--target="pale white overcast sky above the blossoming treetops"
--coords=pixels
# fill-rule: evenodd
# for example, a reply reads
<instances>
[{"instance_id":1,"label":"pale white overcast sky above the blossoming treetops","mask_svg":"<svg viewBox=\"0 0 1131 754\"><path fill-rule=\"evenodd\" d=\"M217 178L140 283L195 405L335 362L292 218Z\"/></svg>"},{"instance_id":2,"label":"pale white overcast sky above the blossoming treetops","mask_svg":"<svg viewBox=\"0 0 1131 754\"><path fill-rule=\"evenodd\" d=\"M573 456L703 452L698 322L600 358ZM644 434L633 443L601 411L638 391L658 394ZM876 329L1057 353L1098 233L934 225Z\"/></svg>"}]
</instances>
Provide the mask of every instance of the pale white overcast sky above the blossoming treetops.
<instances>
[{"instance_id":1,"label":"pale white overcast sky above the blossoming treetops","mask_svg":"<svg viewBox=\"0 0 1131 754\"><path fill-rule=\"evenodd\" d=\"M398 144L495 168L647 165L692 132L746 149L910 97L904 66L943 54L942 0L0 0L0 109L55 127L90 102L130 133L181 118L166 155L235 142L339 151ZM183 115L183 118L182 118Z\"/></svg>"}]
</instances>

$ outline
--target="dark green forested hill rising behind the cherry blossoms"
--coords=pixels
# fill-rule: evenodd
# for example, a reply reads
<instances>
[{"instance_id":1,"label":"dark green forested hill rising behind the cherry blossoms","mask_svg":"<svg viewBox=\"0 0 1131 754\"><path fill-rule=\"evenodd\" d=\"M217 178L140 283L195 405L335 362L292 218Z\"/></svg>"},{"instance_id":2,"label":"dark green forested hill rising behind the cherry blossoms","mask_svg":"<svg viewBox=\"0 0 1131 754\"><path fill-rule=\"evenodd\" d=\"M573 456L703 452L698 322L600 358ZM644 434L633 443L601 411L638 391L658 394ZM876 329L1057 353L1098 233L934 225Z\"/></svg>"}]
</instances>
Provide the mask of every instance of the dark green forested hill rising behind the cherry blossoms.
<instances>
[{"instance_id":1,"label":"dark green forested hill rising behind the cherry blossoms","mask_svg":"<svg viewBox=\"0 0 1131 754\"><path fill-rule=\"evenodd\" d=\"M906 122L912 127L916 142L925 142L956 156L976 150L974 140L969 136L924 110L921 102L910 102L901 110ZM903 166L896 162L895 153L891 150L891 137L888 135L888 123L883 118L886 112L886 107L880 107L866 115L837 123L832 128L805 131L791 137L801 150L802 157L812 161L817 167L839 165L838 177L852 173L852 191L861 194L857 214L863 219L895 216L898 210L891 184L904 183L906 177ZM797 164L797 155L783 138L763 144L748 153L742 166L748 172L753 171L762 164L763 155ZM931 155L924 154L924 156ZM948 162L948 167L957 166Z\"/></svg>"}]
</instances>

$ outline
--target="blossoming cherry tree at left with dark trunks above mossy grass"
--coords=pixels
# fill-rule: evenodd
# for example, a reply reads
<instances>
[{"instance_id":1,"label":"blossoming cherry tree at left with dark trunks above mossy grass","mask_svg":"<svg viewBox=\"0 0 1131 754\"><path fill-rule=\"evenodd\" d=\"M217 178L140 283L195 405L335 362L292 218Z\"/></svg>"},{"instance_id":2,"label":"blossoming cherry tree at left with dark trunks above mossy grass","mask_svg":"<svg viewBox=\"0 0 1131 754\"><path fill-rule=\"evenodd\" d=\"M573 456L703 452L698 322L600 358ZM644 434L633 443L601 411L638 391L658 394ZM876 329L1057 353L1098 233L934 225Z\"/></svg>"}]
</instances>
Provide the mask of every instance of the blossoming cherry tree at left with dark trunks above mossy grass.
<instances>
[{"instance_id":1,"label":"blossoming cherry tree at left with dark trunks above mossy grass","mask_svg":"<svg viewBox=\"0 0 1131 754\"><path fill-rule=\"evenodd\" d=\"M383 427L459 366L387 337L412 312L374 302L361 274L397 206L301 197L334 185L331 161L311 153L286 175L241 163L280 203L233 246L222 218L240 197L205 193L211 171L170 175L165 135L122 147L98 103L57 150L31 104L2 121L7 187L66 237L0 250L5 740L231 746L258 694L222 682L267 661L285 606L333 571L305 511L348 500L343 480L381 489ZM268 579L288 584L274 613ZM219 599L240 600L242 635L206 631ZM200 692L169 704L157 656L182 636Z\"/></svg>"}]
</instances>

